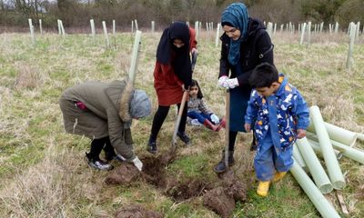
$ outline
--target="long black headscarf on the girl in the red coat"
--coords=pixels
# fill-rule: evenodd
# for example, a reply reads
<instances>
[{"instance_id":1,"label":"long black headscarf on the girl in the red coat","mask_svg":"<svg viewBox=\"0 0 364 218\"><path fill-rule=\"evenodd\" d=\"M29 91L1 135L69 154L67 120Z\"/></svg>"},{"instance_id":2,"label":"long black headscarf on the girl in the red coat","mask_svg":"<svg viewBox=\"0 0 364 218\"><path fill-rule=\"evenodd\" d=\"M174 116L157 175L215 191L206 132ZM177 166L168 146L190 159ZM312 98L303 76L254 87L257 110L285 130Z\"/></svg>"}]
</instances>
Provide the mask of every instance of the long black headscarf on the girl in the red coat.
<instances>
[{"instance_id":1,"label":"long black headscarf on the girl in the red coat","mask_svg":"<svg viewBox=\"0 0 364 218\"><path fill-rule=\"evenodd\" d=\"M179 39L185 45L177 48L173 40ZM174 59L172 60L172 54ZM189 28L183 22L175 22L169 25L160 37L157 47L157 62L171 64L177 77L185 84L185 88L191 84L192 67L189 57Z\"/></svg>"}]
</instances>

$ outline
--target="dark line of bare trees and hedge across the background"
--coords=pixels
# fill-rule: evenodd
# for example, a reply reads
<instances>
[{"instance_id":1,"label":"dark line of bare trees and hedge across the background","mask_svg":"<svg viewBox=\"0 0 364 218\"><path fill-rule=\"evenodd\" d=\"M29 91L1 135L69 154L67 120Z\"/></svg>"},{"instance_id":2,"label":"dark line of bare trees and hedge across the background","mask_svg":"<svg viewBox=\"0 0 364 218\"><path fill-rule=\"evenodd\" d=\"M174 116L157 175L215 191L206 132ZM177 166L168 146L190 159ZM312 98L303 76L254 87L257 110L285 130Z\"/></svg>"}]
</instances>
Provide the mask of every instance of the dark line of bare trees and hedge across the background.
<instances>
[{"instance_id":1,"label":"dark line of bare trees and hedge across the background","mask_svg":"<svg viewBox=\"0 0 364 218\"><path fill-rule=\"evenodd\" d=\"M150 27L154 20L159 28L174 20L219 22L222 10L232 2L248 5L249 15L277 24L339 22L347 28L349 22L364 24L363 0L0 0L0 25L35 25L42 19L45 28L56 29L56 19L65 27L86 27L89 19L96 25L101 21L118 28L130 28L136 19L139 27Z\"/></svg>"}]
</instances>

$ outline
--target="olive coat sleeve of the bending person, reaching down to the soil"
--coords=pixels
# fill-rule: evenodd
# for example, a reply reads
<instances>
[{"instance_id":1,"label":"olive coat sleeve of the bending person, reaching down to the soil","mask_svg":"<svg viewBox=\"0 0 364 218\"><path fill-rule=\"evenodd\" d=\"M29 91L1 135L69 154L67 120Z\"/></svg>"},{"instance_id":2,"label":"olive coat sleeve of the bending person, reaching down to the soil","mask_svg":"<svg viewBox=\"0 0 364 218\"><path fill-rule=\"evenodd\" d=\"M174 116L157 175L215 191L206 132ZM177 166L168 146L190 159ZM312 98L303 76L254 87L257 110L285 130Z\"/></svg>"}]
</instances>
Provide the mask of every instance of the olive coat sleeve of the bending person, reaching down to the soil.
<instances>
[{"instance_id":1,"label":"olive coat sleeve of the bending person, reaching down to the soil","mask_svg":"<svg viewBox=\"0 0 364 218\"><path fill-rule=\"evenodd\" d=\"M107 107L106 114L110 142L116 149L116 153L121 154L128 161L133 160L136 155L133 152L130 129L124 129L124 123L119 118L114 106Z\"/></svg>"}]
</instances>

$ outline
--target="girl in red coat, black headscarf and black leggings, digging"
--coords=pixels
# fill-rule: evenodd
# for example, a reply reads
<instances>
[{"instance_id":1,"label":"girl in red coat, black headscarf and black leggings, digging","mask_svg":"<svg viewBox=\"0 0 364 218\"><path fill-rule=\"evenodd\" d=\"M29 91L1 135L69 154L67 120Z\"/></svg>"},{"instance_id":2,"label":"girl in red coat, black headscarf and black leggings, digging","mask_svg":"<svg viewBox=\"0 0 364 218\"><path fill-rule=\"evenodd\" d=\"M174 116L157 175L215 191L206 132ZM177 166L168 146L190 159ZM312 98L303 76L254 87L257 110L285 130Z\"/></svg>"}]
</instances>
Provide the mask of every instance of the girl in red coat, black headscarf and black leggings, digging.
<instances>
[{"instance_id":1,"label":"girl in red coat, black headscarf and black leggings, digging","mask_svg":"<svg viewBox=\"0 0 364 218\"><path fill-rule=\"evenodd\" d=\"M197 52L196 45L194 29L182 22L169 25L160 38L154 70L158 109L147 144L147 151L151 154L157 153L157 134L167 117L170 105L177 104L179 110L182 95L191 84L192 67L189 53ZM183 109L177 136L185 144L190 144L190 139L185 133L186 120L187 105Z\"/></svg>"}]
</instances>

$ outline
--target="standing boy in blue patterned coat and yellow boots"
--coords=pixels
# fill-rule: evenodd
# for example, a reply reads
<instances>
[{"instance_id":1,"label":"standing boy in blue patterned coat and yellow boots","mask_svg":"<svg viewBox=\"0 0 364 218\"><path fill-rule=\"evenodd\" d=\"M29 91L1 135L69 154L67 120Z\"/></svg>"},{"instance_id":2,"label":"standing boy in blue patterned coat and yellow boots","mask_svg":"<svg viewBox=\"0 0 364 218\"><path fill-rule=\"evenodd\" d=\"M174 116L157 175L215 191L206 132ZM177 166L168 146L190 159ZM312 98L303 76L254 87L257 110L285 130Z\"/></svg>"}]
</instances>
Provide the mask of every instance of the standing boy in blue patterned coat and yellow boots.
<instances>
[{"instance_id":1,"label":"standing boy in blue patterned coat and yellow boots","mask_svg":"<svg viewBox=\"0 0 364 218\"><path fill-rule=\"evenodd\" d=\"M257 193L267 196L270 182L278 182L293 164L292 145L306 136L308 106L284 74L272 64L259 64L249 77L250 94L244 127L254 124L258 151L254 167L259 181ZM277 171L275 173L275 171Z\"/></svg>"}]
</instances>

